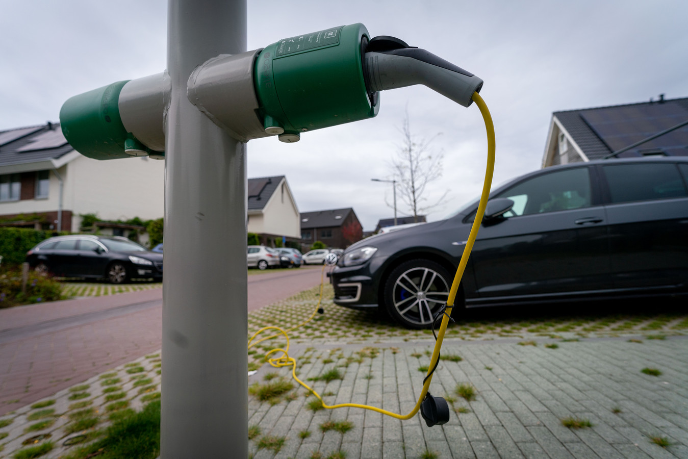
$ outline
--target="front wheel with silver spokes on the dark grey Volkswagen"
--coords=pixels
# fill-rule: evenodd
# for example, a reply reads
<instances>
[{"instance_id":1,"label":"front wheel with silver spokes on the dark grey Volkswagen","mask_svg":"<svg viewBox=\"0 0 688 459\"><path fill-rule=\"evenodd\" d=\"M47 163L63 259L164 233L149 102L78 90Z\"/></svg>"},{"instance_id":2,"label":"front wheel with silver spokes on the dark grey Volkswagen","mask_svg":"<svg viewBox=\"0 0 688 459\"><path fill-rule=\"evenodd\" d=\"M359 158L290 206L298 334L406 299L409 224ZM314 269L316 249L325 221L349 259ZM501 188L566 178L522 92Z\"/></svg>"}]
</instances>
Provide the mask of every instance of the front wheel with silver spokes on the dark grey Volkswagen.
<instances>
[{"instance_id":1,"label":"front wheel with silver spokes on the dark grey Volkswagen","mask_svg":"<svg viewBox=\"0 0 688 459\"><path fill-rule=\"evenodd\" d=\"M434 261L406 261L385 282L387 312L406 328L431 328L433 317L447 302L451 280L449 272Z\"/></svg>"}]
</instances>

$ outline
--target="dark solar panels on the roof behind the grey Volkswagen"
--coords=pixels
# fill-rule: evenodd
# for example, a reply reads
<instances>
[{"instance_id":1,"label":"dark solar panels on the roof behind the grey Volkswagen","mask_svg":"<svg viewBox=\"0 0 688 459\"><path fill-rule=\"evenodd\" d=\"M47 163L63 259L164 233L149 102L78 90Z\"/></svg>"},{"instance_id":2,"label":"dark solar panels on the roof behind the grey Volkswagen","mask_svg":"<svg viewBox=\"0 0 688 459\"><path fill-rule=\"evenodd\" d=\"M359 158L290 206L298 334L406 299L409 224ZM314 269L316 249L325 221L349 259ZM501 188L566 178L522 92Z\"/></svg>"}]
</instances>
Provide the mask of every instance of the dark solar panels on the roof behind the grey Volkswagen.
<instances>
[{"instance_id":1,"label":"dark solar panels on the roof behind the grey Volkswagen","mask_svg":"<svg viewBox=\"0 0 688 459\"><path fill-rule=\"evenodd\" d=\"M675 103L608 107L581 112L581 118L612 151L623 149L688 120L688 110ZM685 147L688 127L643 143L641 148Z\"/></svg>"}]
</instances>

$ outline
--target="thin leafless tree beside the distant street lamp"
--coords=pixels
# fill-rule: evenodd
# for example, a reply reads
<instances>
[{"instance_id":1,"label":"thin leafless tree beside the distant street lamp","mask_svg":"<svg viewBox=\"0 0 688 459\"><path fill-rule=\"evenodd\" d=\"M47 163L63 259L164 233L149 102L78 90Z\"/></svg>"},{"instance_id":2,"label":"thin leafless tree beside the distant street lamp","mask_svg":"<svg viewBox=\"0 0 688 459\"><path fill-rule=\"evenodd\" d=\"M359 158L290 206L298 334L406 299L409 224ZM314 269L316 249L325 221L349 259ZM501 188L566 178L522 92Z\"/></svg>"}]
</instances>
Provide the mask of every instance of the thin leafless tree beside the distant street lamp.
<instances>
[{"instance_id":1,"label":"thin leafless tree beside the distant street lamp","mask_svg":"<svg viewBox=\"0 0 688 459\"><path fill-rule=\"evenodd\" d=\"M444 204L444 198L449 190L436 201L429 202L425 197L429 183L442 177L442 160L444 154L433 153L431 142L440 134L432 136L428 140L411 134L409 113L400 129L402 133L402 145L398 147L396 156L391 160L391 167L394 169L394 178L398 182L398 193L400 200L405 204L409 211L413 213L413 222L418 222L418 214ZM389 205L389 202L387 203Z\"/></svg>"}]
</instances>

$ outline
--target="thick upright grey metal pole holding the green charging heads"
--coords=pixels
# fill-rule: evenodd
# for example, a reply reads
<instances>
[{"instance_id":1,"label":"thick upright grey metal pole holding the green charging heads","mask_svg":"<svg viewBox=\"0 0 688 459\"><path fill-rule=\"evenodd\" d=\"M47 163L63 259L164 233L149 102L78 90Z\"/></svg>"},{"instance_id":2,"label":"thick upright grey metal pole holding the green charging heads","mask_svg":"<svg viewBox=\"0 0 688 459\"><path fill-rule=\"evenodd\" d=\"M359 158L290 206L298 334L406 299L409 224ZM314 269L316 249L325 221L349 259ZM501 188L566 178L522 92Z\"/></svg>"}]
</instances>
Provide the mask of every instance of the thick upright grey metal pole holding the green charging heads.
<instances>
[{"instance_id":1,"label":"thick upright grey metal pole holding the green charging heads","mask_svg":"<svg viewBox=\"0 0 688 459\"><path fill-rule=\"evenodd\" d=\"M246 0L169 0L161 457L248 457L246 151L186 97L246 51Z\"/></svg>"}]
</instances>

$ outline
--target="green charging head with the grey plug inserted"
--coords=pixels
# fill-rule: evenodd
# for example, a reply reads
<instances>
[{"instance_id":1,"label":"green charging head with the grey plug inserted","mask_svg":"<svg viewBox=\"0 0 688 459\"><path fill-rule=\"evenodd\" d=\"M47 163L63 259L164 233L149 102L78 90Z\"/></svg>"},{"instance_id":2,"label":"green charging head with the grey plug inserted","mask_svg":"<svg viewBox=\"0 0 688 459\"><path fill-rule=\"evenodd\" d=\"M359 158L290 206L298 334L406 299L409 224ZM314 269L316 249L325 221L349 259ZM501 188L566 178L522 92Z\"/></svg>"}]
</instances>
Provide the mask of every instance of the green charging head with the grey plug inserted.
<instances>
[{"instance_id":1,"label":"green charging head with the grey plug inserted","mask_svg":"<svg viewBox=\"0 0 688 459\"><path fill-rule=\"evenodd\" d=\"M365 85L369 41L361 23L292 36L268 45L255 62L259 116L268 134L299 134L378 114L378 93Z\"/></svg>"}]
</instances>

